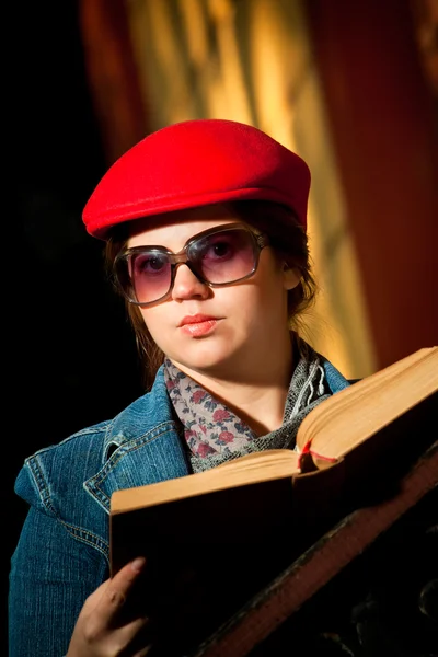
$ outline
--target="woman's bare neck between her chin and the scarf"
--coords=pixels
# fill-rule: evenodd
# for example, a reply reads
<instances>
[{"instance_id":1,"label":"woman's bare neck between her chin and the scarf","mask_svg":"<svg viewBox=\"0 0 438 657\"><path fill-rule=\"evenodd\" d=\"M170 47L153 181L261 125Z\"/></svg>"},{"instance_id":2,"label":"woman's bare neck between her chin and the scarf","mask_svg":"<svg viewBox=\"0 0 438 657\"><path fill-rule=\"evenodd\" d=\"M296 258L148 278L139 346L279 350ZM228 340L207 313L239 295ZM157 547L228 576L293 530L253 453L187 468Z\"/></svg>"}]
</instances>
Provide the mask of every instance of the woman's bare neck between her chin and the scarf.
<instances>
[{"instance_id":1,"label":"woman's bare neck between her chin and the scarf","mask_svg":"<svg viewBox=\"0 0 438 657\"><path fill-rule=\"evenodd\" d=\"M173 362L215 399L233 411L258 436L264 436L281 426L295 368L292 341L288 339L286 349L278 354L270 353L269 361L261 361L256 372L249 371L251 368L233 368L234 372L245 372L245 378L215 376L211 372L205 373L180 362Z\"/></svg>"}]
</instances>

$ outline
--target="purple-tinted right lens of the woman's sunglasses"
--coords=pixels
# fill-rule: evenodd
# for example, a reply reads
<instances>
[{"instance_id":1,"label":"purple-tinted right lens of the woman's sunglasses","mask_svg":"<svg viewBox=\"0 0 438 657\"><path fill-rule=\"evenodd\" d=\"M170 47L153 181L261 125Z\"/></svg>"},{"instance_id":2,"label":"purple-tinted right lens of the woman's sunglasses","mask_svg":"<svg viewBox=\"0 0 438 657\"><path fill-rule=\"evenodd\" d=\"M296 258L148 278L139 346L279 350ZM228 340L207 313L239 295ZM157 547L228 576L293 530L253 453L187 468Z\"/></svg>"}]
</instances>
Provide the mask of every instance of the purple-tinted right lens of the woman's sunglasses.
<instances>
[{"instance_id":1,"label":"purple-tinted right lens of the woman's sunglasses","mask_svg":"<svg viewBox=\"0 0 438 657\"><path fill-rule=\"evenodd\" d=\"M223 230L194 241L188 258L200 276L212 284L240 280L257 264L254 237L244 229Z\"/></svg>"}]
</instances>

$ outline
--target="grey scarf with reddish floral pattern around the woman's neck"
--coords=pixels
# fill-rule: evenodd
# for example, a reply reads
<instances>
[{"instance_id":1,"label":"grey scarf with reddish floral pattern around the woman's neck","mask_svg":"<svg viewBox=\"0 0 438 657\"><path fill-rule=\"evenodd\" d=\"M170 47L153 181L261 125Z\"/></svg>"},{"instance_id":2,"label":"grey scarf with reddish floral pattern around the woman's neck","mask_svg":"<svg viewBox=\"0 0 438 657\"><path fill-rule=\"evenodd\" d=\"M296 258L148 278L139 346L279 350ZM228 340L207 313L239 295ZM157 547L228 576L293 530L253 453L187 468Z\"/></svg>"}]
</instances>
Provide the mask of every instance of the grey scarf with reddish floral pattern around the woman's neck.
<instances>
[{"instance_id":1,"label":"grey scarf with reddish floral pattern around the woman's neck","mask_svg":"<svg viewBox=\"0 0 438 657\"><path fill-rule=\"evenodd\" d=\"M243 454L266 449L295 449L301 422L331 395L320 355L300 341L301 356L295 368L278 429L257 436L226 404L187 377L169 358L164 379L170 399L184 427L194 472L209 470Z\"/></svg>"}]
</instances>

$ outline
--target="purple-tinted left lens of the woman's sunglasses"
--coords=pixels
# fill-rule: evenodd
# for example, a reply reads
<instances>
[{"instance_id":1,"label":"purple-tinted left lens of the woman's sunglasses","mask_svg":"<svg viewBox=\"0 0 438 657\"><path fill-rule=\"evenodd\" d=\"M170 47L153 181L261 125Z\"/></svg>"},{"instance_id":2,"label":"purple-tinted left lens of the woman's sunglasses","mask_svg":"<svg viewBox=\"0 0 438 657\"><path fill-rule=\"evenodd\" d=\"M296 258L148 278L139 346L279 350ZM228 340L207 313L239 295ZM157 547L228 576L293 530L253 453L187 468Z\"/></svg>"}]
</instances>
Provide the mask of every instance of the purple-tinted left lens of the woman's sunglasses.
<instances>
[{"instance_id":1,"label":"purple-tinted left lens of the woman's sunglasses","mask_svg":"<svg viewBox=\"0 0 438 657\"><path fill-rule=\"evenodd\" d=\"M172 269L165 253L143 251L129 258L130 287L135 300L151 303L164 297L171 287Z\"/></svg>"}]
</instances>

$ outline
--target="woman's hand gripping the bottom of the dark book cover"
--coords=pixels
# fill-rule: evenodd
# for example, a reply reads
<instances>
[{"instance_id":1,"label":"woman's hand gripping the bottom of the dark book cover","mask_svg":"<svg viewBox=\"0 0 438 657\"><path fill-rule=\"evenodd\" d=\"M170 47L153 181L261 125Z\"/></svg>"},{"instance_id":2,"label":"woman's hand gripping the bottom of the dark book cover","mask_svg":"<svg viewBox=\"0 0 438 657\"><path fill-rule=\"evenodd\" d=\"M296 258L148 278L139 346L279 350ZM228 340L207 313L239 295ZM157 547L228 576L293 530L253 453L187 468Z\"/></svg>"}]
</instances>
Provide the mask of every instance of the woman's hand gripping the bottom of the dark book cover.
<instances>
[{"instance_id":1,"label":"woman's hand gripping the bottom of the dark book cover","mask_svg":"<svg viewBox=\"0 0 438 657\"><path fill-rule=\"evenodd\" d=\"M122 613L145 564L145 558L127 564L87 598L66 657L143 657L148 654L148 619L124 621Z\"/></svg>"}]
</instances>

